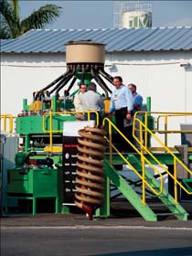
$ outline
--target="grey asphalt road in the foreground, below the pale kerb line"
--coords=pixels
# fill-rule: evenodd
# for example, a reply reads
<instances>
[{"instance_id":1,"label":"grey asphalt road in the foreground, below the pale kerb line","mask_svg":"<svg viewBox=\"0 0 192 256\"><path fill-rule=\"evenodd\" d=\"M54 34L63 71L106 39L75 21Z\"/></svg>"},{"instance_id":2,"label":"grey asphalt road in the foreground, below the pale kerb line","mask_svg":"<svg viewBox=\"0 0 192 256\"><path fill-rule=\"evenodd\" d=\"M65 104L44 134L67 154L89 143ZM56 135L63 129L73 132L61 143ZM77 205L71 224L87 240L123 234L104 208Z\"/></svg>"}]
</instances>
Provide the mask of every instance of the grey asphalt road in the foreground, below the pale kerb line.
<instances>
[{"instance_id":1,"label":"grey asphalt road in the foreground, below the pale kerb line","mask_svg":"<svg viewBox=\"0 0 192 256\"><path fill-rule=\"evenodd\" d=\"M191 256L192 229L133 226L6 227L1 256Z\"/></svg>"}]
</instances>

